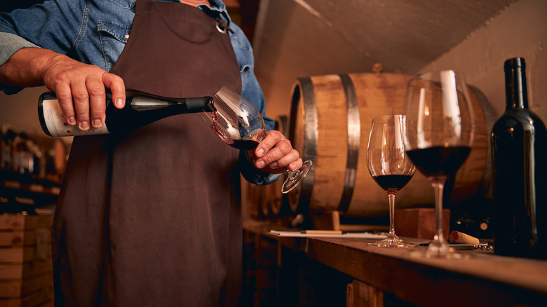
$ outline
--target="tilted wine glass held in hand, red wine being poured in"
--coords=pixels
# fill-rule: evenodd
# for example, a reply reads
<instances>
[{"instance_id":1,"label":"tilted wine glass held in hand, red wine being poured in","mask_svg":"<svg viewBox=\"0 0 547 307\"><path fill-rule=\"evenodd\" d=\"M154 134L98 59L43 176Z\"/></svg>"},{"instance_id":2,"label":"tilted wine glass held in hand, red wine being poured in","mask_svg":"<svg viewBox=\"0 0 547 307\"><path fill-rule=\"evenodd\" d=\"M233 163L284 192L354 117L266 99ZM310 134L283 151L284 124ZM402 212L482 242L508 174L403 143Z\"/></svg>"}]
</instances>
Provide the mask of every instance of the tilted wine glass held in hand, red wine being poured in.
<instances>
[{"instance_id":1,"label":"tilted wine glass held in hand, red wine being poured in","mask_svg":"<svg viewBox=\"0 0 547 307\"><path fill-rule=\"evenodd\" d=\"M202 116L224 143L236 149L253 150L266 137L264 118L257 108L226 86L215 94L213 103L208 104ZM304 161L302 167L294 172L287 169L288 177L281 192L289 193L295 189L311 170L311 165L311 161Z\"/></svg>"}]
</instances>

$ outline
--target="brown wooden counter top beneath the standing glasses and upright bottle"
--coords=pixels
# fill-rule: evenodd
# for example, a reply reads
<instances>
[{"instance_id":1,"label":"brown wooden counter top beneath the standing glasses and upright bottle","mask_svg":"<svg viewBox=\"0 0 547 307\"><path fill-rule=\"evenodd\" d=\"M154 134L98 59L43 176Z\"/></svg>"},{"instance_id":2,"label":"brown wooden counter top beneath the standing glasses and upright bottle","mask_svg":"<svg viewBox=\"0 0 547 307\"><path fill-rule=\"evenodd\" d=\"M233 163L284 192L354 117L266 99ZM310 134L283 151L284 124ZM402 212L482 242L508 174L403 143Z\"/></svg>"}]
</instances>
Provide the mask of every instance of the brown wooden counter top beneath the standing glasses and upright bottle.
<instances>
[{"instance_id":1,"label":"brown wooden counter top beneath the standing glasses and upright bottle","mask_svg":"<svg viewBox=\"0 0 547 307\"><path fill-rule=\"evenodd\" d=\"M374 240L278 237L269 230L286 229L267 224L244 228L419 306L546 306L547 261L481 250L460 251L468 259L424 259L366 245Z\"/></svg>"}]
</instances>

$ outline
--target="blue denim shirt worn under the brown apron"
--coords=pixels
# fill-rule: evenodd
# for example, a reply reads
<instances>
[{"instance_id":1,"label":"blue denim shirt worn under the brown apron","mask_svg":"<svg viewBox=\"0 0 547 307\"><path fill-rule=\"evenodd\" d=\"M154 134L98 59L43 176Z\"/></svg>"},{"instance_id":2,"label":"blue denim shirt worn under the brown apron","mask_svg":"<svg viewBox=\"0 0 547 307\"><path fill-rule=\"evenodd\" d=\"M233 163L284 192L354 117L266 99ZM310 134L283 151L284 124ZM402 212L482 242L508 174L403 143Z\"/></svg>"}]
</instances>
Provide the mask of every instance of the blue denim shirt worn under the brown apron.
<instances>
[{"instance_id":1,"label":"blue denim shirt worn under the brown apron","mask_svg":"<svg viewBox=\"0 0 547 307\"><path fill-rule=\"evenodd\" d=\"M254 57L250 42L241 28L231 22L224 3L220 0L209 1L210 7L201 4L198 8L209 15L224 18L234 31L228 33L241 72L241 95L257 107L264 117L266 130L271 130L274 121L264 116L264 95L253 71ZM136 2L51 0L31 8L0 13L0 64L4 64L21 48L39 46L109 71L128 41ZM0 83L0 90L13 94L21 88ZM280 177L256 170L249 165L243 152L240 160L242 165L246 165L241 168L241 173L249 182L269 184Z\"/></svg>"}]
</instances>

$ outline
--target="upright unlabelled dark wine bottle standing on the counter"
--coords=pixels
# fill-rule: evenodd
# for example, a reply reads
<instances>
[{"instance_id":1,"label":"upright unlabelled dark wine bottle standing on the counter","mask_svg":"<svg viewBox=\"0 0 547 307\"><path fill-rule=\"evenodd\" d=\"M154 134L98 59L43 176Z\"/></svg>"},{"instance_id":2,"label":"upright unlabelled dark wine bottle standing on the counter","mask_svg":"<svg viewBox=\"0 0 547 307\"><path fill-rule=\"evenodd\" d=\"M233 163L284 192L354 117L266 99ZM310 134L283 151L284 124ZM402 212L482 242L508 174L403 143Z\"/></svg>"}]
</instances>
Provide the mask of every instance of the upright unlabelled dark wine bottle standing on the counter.
<instances>
[{"instance_id":1,"label":"upright unlabelled dark wine bottle standing on the counter","mask_svg":"<svg viewBox=\"0 0 547 307\"><path fill-rule=\"evenodd\" d=\"M505 62L506 111L492 128L494 253L547 258L547 131L528 109L525 60Z\"/></svg>"}]
</instances>

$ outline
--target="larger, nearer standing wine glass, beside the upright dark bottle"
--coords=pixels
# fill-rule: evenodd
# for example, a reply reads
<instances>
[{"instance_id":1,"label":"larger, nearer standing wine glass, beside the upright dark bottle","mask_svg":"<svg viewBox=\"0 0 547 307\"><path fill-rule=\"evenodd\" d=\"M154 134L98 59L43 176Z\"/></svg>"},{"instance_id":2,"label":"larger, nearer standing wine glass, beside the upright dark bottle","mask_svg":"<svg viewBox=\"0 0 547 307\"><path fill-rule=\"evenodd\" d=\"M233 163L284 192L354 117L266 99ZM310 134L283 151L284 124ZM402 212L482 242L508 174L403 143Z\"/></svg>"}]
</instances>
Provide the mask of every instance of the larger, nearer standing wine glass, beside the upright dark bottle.
<instances>
[{"instance_id":1,"label":"larger, nearer standing wine glass, beside the upright dark bottle","mask_svg":"<svg viewBox=\"0 0 547 307\"><path fill-rule=\"evenodd\" d=\"M431 180L435 193L436 231L421 256L457 259L443 236L443 188L466 161L475 133L468 86L452 70L419 74L411 79L405 97L405 114L416 123L416 135L405 135L407 155Z\"/></svg>"}]
</instances>

